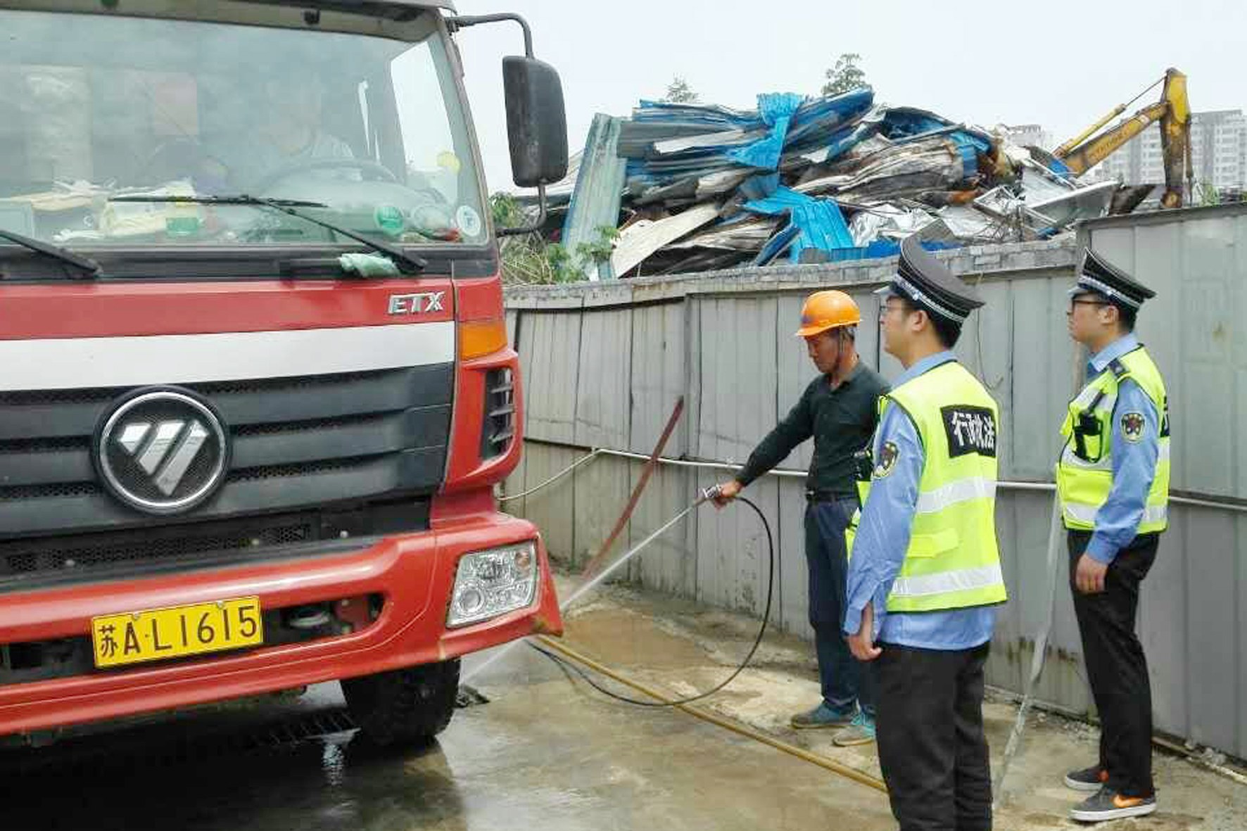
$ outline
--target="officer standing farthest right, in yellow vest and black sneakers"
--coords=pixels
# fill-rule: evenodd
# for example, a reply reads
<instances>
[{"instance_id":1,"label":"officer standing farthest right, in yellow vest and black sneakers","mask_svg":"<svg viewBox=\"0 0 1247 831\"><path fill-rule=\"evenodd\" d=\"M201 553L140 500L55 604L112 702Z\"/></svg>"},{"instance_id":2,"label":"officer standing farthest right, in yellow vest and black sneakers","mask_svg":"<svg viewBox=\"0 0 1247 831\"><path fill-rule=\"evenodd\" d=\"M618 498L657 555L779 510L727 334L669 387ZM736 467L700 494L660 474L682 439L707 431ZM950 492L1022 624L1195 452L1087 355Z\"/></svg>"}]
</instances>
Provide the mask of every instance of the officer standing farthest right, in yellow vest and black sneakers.
<instances>
[{"instance_id":1,"label":"officer standing farthest right, in yellow vest and black sneakers","mask_svg":"<svg viewBox=\"0 0 1247 831\"><path fill-rule=\"evenodd\" d=\"M1061 427L1056 484L1101 730L1100 759L1065 784L1092 792L1071 816L1095 822L1156 810L1151 685L1135 619L1140 583L1167 525L1170 430L1165 382L1134 334L1155 292L1087 251L1070 294L1070 337L1091 359Z\"/></svg>"}]
</instances>

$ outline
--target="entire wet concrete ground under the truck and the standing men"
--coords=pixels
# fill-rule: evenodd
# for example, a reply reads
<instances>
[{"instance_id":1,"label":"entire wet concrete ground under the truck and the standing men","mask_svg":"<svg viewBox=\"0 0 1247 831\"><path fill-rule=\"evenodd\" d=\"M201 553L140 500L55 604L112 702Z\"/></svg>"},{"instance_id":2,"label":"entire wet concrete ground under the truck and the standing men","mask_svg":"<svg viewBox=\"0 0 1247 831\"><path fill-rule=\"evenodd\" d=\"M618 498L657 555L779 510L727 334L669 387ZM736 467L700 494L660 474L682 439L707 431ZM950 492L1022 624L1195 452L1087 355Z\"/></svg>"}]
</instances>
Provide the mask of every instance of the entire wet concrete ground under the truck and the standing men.
<instances>
[{"instance_id":1,"label":"entire wet concrete ground under the truck and the standing men","mask_svg":"<svg viewBox=\"0 0 1247 831\"><path fill-rule=\"evenodd\" d=\"M687 695L723 678L754 623L609 588L572 615L567 640L625 674ZM809 648L771 636L710 710L878 772L873 749L835 749L788 716L817 701ZM475 659L465 673L481 663ZM0 751L0 829L25 831L297 829L894 829L883 794L670 710L606 701L520 646L470 683L488 704L459 710L423 749L383 751L338 731L337 685L299 699L183 714L37 751ZM635 695L635 694L633 694ZM1013 707L986 707L994 755ZM329 730L325 735L314 735ZM308 734L313 734L308 736ZM1094 730L1056 716L1029 726L999 829L1079 827L1060 772L1092 759ZM1242 829L1247 789L1157 757L1162 810L1101 829Z\"/></svg>"}]
</instances>

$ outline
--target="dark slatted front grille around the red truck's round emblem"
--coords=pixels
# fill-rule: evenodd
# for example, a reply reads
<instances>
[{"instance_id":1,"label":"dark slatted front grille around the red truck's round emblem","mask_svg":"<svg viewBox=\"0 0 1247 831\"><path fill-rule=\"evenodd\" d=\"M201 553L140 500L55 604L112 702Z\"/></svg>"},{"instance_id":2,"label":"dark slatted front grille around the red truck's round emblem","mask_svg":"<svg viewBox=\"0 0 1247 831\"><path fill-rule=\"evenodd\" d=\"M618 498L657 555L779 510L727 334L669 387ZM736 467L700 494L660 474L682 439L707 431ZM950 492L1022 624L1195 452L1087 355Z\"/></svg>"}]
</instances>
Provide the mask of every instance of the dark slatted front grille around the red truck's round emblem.
<instances>
[{"instance_id":1,"label":"dark slatted front grille around the red truck's round emblem","mask_svg":"<svg viewBox=\"0 0 1247 831\"><path fill-rule=\"evenodd\" d=\"M131 388L0 393L0 585L64 571L66 561L81 569L317 540L325 508L426 497L444 475L453 383L454 366L436 364L182 384L221 413L232 457L211 499L170 518L115 499L92 464L92 435ZM238 524L259 515L259 527ZM136 529L140 538L96 539Z\"/></svg>"}]
</instances>

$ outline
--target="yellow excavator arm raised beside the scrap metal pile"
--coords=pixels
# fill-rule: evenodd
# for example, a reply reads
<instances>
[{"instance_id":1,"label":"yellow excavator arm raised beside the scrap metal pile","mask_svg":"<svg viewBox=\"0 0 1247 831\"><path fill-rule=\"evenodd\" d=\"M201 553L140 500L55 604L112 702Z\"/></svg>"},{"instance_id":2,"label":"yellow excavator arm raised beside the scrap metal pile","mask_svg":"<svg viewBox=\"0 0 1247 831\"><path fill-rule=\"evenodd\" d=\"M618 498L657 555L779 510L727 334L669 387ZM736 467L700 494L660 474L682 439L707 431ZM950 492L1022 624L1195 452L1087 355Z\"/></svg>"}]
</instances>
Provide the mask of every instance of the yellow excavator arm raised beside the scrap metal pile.
<instances>
[{"instance_id":1,"label":"yellow excavator arm raised beside the scrap metal pile","mask_svg":"<svg viewBox=\"0 0 1247 831\"><path fill-rule=\"evenodd\" d=\"M1193 187L1191 171L1191 105L1186 97L1186 75L1176 69L1165 72L1161 100L1117 122L1100 135L1101 127L1126 111L1126 105L1114 107L1109 115L1080 135L1052 151L1075 175L1085 173L1111 152L1137 136L1148 125L1160 122L1161 157L1165 162L1165 195L1161 205L1182 207L1182 180L1187 192ZM1095 137L1091 137L1095 136ZM1185 173L1185 176L1183 176Z\"/></svg>"}]
</instances>

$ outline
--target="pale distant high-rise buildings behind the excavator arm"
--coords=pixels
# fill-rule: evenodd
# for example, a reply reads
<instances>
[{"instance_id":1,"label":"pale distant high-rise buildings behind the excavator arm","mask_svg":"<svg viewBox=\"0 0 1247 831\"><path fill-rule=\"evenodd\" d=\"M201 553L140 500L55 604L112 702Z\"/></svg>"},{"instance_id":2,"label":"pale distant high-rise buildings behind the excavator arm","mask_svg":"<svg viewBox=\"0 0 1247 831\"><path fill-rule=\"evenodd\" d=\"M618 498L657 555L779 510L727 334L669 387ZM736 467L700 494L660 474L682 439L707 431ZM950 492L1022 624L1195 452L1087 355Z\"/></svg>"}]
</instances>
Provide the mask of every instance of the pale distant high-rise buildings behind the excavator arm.
<instances>
[{"instance_id":1,"label":"pale distant high-rise buildings behind the excavator arm","mask_svg":"<svg viewBox=\"0 0 1247 831\"><path fill-rule=\"evenodd\" d=\"M1191 163L1196 186L1217 190L1247 186L1247 119L1242 110L1191 114ZM1106 178L1126 185L1165 181L1160 125L1120 147L1100 165Z\"/></svg>"}]
</instances>

